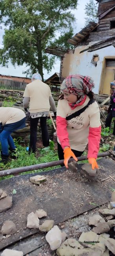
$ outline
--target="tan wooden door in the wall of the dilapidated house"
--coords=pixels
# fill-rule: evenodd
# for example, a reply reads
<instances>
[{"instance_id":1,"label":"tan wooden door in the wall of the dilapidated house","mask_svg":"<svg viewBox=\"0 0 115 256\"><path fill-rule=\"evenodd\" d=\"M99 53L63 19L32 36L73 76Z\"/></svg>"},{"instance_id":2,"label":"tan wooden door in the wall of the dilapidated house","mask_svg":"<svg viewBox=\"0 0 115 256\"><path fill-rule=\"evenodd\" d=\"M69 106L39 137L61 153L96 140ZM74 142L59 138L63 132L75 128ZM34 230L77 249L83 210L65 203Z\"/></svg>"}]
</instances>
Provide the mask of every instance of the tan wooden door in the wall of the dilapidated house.
<instances>
[{"instance_id":1,"label":"tan wooden door in the wall of the dilapidated house","mask_svg":"<svg viewBox=\"0 0 115 256\"><path fill-rule=\"evenodd\" d=\"M110 95L110 82L115 80L115 59L106 59L101 87L100 87L100 94L107 94Z\"/></svg>"}]
</instances>

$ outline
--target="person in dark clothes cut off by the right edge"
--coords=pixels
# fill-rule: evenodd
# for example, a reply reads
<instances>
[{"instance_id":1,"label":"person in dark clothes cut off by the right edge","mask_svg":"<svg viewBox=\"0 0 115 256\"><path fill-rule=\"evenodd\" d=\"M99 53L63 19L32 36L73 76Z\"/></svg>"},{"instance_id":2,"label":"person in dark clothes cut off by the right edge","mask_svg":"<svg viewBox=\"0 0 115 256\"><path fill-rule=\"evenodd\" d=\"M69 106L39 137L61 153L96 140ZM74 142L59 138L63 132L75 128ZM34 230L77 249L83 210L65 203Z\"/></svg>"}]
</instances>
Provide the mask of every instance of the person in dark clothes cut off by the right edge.
<instances>
[{"instance_id":1,"label":"person in dark clothes cut off by the right edge","mask_svg":"<svg viewBox=\"0 0 115 256\"><path fill-rule=\"evenodd\" d=\"M110 83L111 89L110 89L110 105L108 109L108 115L106 118L106 127L111 126L112 118L115 117L115 80ZM113 135L115 135L115 120L114 120L114 127L113 127Z\"/></svg>"}]
</instances>

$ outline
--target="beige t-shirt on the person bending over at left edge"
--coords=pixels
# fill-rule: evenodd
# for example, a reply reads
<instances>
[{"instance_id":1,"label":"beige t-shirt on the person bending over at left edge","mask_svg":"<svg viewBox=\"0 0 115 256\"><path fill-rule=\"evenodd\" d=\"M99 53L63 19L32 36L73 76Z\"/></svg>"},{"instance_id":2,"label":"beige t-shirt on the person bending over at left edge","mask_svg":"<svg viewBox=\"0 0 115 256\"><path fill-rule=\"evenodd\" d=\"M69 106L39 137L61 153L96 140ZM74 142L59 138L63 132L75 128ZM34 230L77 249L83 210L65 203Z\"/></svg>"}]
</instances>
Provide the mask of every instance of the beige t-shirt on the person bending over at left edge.
<instances>
[{"instance_id":1,"label":"beige t-shirt on the person bending over at left edge","mask_svg":"<svg viewBox=\"0 0 115 256\"><path fill-rule=\"evenodd\" d=\"M5 124L12 124L14 122L18 122L24 117L26 117L24 111L19 108L0 108L0 122L2 122L3 126Z\"/></svg>"}]
</instances>

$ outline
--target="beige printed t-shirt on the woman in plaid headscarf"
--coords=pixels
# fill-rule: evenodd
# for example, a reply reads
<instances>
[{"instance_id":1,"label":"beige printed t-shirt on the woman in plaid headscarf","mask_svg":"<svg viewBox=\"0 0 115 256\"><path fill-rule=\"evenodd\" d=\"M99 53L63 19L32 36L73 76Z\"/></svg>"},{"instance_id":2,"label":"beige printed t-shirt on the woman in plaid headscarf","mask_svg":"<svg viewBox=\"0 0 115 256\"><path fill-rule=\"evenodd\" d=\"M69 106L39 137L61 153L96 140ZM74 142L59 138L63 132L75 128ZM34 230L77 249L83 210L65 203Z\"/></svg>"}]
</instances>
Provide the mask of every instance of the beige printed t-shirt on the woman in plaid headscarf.
<instances>
[{"instance_id":1,"label":"beige printed t-shirt on the woman in plaid headscarf","mask_svg":"<svg viewBox=\"0 0 115 256\"><path fill-rule=\"evenodd\" d=\"M88 102L89 97L87 96L82 106L71 109L67 100L59 100L57 107L57 116L66 118L68 115L71 115L72 113L85 107ZM98 108L98 104L95 101L88 108L86 108L85 111L80 114L80 116L67 121L67 132L69 134L70 148L78 151L83 151L88 143L89 126L92 128L96 128L100 125L100 111ZM60 144L59 139L58 143Z\"/></svg>"}]
</instances>

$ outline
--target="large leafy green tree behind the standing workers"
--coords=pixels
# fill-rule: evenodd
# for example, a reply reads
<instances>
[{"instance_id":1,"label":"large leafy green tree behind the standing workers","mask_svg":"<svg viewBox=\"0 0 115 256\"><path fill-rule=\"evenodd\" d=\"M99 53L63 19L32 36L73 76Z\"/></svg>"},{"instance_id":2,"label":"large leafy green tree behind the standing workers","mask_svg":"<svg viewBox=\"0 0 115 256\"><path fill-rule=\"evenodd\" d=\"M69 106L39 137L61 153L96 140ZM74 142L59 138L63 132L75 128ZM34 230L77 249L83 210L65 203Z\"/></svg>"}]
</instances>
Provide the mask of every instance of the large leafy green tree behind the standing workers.
<instances>
[{"instance_id":1,"label":"large leafy green tree behind the standing workers","mask_svg":"<svg viewBox=\"0 0 115 256\"><path fill-rule=\"evenodd\" d=\"M0 0L0 23L8 28L0 49L0 64L8 67L26 63L26 74L43 69L48 72L55 63L55 56L45 53L50 45L65 46L73 35L77 0ZM63 39L63 42L62 42Z\"/></svg>"}]
</instances>

